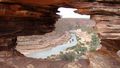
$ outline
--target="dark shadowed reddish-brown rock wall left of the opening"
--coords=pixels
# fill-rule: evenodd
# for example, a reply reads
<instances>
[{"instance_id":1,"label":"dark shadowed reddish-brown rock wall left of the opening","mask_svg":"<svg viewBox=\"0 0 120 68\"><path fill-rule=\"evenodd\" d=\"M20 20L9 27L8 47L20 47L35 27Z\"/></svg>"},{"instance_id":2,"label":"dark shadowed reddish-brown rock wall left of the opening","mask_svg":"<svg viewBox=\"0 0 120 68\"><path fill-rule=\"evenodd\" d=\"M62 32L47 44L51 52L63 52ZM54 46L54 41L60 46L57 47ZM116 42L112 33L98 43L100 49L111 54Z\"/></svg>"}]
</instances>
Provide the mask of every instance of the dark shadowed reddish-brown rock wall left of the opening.
<instances>
[{"instance_id":1,"label":"dark shadowed reddish-brown rock wall left of the opening","mask_svg":"<svg viewBox=\"0 0 120 68\"><path fill-rule=\"evenodd\" d=\"M41 35L54 30L54 24L59 18L56 14L58 7L42 5L43 2L50 4L46 1L0 1L1 57L7 54L7 57L12 57L13 53L19 56L20 53L15 49L17 36Z\"/></svg>"}]
</instances>

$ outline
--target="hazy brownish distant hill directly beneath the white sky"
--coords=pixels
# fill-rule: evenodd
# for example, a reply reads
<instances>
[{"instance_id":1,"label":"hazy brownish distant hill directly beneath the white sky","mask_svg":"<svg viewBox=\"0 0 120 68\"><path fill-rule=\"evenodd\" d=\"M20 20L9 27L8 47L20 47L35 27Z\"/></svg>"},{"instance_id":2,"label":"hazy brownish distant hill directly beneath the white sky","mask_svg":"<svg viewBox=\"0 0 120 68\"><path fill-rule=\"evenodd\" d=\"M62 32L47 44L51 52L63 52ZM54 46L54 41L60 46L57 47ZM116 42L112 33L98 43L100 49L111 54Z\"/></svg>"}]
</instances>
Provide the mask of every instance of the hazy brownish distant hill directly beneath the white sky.
<instances>
[{"instance_id":1,"label":"hazy brownish distant hill directly beneath the white sky","mask_svg":"<svg viewBox=\"0 0 120 68\"><path fill-rule=\"evenodd\" d=\"M95 22L90 19L80 19L80 18L61 18L55 24L56 32L65 32L75 29L76 26L95 26Z\"/></svg>"}]
</instances>

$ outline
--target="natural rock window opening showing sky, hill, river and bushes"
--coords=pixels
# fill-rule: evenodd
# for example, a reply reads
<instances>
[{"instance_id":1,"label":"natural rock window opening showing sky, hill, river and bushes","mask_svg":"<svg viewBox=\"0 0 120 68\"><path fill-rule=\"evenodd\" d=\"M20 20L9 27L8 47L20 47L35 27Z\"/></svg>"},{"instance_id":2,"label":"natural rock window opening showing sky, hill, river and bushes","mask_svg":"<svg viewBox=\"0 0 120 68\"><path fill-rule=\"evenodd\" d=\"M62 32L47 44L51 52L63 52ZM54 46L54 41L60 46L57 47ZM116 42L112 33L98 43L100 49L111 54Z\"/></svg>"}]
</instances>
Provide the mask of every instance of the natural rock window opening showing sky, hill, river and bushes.
<instances>
[{"instance_id":1,"label":"natural rock window opening showing sky, hill, river and bushes","mask_svg":"<svg viewBox=\"0 0 120 68\"><path fill-rule=\"evenodd\" d=\"M75 10L60 7L56 14L61 18L55 30L45 35L19 36L17 50L27 57L69 61L96 50L100 39L93 29L95 22L90 20L90 15L80 15Z\"/></svg>"}]
</instances>

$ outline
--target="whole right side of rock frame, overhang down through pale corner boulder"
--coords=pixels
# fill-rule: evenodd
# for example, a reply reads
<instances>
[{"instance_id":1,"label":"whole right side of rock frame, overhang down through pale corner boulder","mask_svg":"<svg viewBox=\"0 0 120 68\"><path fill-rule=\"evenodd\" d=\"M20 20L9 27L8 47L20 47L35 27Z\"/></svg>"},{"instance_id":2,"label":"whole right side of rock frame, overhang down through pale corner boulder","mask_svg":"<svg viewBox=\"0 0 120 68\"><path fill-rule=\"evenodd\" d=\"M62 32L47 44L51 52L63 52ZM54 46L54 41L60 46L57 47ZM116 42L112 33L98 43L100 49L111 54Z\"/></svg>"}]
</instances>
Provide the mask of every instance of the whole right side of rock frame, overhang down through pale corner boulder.
<instances>
[{"instance_id":1,"label":"whole right side of rock frame, overhang down through pale corner boulder","mask_svg":"<svg viewBox=\"0 0 120 68\"><path fill-rule=\"evenodd\" d=\"M102 48L88 53L92 68L119 68L120 58L120 1L97 0L94 3L77 3L77 13L91 15L96 22L95 29L101 39ZM118 52L117 52L118 51ZM99 55L98 55L99 54ZM100 61L101 60L101 61Z\"/></svg>"}]
</instances>

